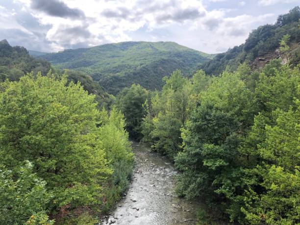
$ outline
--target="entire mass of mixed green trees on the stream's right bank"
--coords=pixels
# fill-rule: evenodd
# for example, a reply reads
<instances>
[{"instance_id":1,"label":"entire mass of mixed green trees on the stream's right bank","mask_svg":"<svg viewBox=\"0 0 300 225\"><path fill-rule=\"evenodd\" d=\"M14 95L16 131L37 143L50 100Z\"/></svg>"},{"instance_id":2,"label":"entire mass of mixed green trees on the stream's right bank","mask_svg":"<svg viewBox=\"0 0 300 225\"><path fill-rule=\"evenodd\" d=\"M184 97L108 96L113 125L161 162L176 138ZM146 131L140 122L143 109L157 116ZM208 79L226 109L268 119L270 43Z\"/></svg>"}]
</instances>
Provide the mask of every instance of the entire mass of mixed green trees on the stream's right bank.
<instances>
[{"instance_id":1,"label":"entire mass of mixed green trees on the stream's right bank","mask_svg":"<svg viewBox=\"0 0 300 225\"><path fill-rule=\"evenodd\" d=\"M143 140L175 159L177 192L240 224L299 223L300 67L175 71L148 100ZM208 222L210 223L210 222Z\"/></svg>"}]
</instances>

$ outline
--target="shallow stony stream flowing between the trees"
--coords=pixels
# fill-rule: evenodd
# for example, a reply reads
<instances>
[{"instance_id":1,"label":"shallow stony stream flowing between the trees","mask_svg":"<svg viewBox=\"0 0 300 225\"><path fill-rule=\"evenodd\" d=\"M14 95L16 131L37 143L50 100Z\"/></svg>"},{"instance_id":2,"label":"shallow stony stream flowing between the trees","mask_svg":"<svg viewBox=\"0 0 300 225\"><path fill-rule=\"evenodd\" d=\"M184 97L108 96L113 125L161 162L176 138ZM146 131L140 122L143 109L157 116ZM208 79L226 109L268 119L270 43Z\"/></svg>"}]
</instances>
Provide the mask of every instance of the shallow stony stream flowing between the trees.
<instances>
[{"instance_id":1,"label":"shallow stony stream flowing between the trees","mask_svg":"<svg viewBox=\"0 0 300 225\"><path fill-rule=\"evenodd\" d=\"M197 204L175 194L173 164L144 145L132 143L135 167L126 196L102 225L196 224Z\"/></svg>"}]
</instances>

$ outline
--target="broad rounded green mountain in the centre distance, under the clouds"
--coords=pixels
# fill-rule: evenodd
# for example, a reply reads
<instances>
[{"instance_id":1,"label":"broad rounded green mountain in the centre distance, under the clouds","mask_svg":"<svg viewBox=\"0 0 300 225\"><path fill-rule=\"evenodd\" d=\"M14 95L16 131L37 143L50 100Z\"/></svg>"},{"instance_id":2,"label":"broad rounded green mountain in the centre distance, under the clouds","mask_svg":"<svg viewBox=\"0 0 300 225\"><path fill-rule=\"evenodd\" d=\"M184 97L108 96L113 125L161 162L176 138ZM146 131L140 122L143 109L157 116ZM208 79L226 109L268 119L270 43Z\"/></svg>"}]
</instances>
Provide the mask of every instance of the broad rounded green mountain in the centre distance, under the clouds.
<instances>
[{"instance_id":1,"label":"broad rounded green mountain in the centre distance, under the clouds","mask_svg":"<svg viewBox=\"0 0 300 225\"><path fill-rule=\"evenodd\" d=\"M109 93L117 94L132 83L150 90L161 89L162 77L171 75L176 69L191 75L213 55L174 42L121 42L39 57L57 68L86 72Z\"/></svg>"}]
</instances>

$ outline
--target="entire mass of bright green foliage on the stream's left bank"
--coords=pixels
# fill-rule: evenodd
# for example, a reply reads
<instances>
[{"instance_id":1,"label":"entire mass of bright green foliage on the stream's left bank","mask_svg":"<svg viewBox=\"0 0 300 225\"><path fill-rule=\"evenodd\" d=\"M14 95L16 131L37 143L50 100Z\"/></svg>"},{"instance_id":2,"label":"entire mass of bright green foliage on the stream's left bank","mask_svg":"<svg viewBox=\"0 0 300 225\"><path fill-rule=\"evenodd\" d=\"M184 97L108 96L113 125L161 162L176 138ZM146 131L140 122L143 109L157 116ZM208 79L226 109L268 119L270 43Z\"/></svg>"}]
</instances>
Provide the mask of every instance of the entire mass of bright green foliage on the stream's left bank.
<instances>
[{"instance_id":1,"label":"entire mass of bright green foliage on the stream's left bank","mask_svg":"<svg viewBox=\"0 0 300 225\"><path fill-rule=\"evenodd\" d=\"M126 188L133 158L122 115L100 112L94 95L67 82L38 74L0 84L4 220L47 221L46 213L62 208L106 210Z\"/></svg>"}]
</instances>

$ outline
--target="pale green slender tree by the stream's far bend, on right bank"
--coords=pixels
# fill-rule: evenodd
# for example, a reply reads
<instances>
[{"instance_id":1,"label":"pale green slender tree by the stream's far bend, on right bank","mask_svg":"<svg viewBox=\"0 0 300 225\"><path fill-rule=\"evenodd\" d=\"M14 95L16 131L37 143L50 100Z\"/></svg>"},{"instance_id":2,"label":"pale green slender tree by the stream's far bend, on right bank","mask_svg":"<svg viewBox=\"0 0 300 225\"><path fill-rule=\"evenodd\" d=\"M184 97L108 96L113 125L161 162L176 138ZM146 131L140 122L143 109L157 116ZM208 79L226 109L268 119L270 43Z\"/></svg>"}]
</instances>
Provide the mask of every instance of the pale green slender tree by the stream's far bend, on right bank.
<instances>
[{"instance_id":1,"label":"pale green slender tree by the stream's far bend, on right bank","mask_svg":"<svg viewBox=\"0 0 300 225\"><path fill-rule=\"evenodd\" d=\"M199 103L201 91L208 88L211 77L197 71L188 80L177 70L164 81L161 93L153 93L146 103L148 114L142 123L142 133L143 140L150 142L153 149L174 158L182 148L181 128Z\"/></svg>"}]
</instances>

